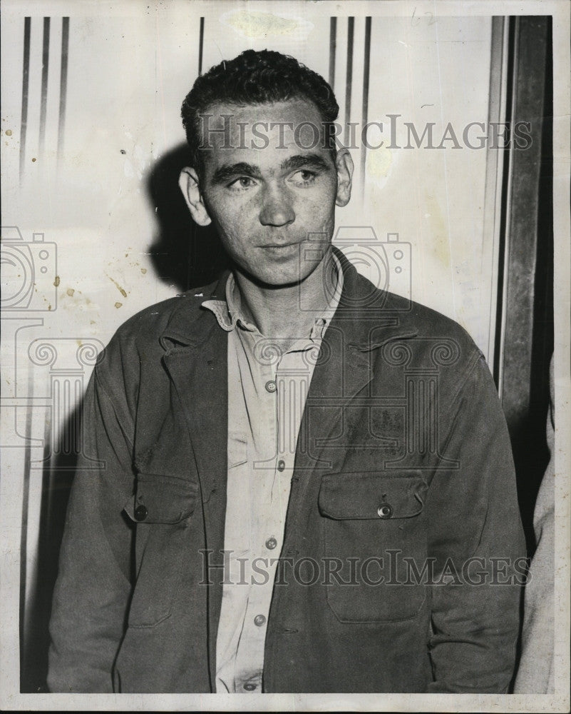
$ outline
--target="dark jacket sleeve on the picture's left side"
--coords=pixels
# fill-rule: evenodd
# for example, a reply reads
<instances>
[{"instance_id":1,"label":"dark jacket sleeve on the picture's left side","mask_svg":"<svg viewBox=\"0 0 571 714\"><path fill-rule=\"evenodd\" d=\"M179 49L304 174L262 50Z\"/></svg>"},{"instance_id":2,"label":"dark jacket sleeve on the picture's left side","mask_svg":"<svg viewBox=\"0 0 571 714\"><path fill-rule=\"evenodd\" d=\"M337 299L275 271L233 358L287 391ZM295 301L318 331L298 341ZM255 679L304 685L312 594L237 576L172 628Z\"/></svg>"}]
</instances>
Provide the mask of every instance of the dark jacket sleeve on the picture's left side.
<instances>
[{"instance_id":1,"label":"dark jacket sleeve on the picture's left side","mask_svg":"<svg viewBox=\"0 0 571 714\"><path fill-rule=\"evenodd\" d=\"M81 456L53 593L51 692L113 691L113 661L130 598L132 532L122 511L133 493L133 419L122 380L106 388L101 366L91 376L83 403Z\"/></svg>"}]
</instances>

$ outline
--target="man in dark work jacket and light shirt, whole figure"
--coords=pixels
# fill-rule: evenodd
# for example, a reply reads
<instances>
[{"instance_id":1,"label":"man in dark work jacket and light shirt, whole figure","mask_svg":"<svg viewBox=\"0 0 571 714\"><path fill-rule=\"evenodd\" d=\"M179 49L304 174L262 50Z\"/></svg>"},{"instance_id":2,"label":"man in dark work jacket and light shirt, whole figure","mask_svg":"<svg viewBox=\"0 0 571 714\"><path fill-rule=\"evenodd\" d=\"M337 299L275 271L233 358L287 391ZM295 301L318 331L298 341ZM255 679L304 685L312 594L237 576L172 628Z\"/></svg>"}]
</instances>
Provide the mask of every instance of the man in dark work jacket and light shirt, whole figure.
<instances>
[{"instance_id":1,"label":"man in dark work jacket and light shirt, whole figure","mask_svg":"<svg viewBox=\"0 0 571 714\"><path fill-rule=\"evenodd\" d=\"M337 111L270 51L185 99L180 186L232 271L96 367L53 691L508 688L524 545L498 397L465 331L331 248Z\"/></svg>"}]
</instances>

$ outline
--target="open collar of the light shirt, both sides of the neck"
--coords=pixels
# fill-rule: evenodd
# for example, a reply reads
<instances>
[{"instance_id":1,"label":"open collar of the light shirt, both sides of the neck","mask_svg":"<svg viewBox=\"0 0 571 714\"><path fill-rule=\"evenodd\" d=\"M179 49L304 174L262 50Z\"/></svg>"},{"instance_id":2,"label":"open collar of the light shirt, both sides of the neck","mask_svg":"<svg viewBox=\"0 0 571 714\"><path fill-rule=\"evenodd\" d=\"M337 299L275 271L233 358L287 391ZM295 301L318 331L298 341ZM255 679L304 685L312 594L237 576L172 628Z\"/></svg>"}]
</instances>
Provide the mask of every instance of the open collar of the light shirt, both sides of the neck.
<instances>
[{"instance_id":1,"label":"open collar of the light shirt, both sides of the neck","mask_svg":"<svg viewBox=\"0 0 571 714\"><path fill-rule=\"evenodd\" d=\"M334 251L329 251L329 256L326 260L330 260L332 263L332 269L326 271L327 282L325 288L329 301L324 311L315 318L310 334L312 339L323 336L339 305L341 291L343 290L344 276L339 258ZM233 273L230 273L226 281L225 298L225 300L206 300L202 303L202 307L212 311L217 323L227 332L231 332L237 325L249 332L257 332L257 327L248 322L243 316L242 297Z\"/></svg>"}]
</instances>

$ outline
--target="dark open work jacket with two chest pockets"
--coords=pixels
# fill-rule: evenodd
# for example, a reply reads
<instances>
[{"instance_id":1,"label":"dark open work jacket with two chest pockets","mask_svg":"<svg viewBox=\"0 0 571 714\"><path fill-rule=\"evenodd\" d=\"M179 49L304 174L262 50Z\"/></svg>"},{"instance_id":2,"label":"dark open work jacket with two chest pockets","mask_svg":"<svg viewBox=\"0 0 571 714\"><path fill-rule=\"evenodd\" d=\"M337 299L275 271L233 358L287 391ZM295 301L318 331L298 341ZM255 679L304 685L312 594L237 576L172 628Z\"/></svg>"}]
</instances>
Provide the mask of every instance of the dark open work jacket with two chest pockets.
<instances>
[{"instance_id":1,"label":"dark open work jacket with two chest pockets","mask_svg":"<svg viewBox=\"0 0 571 714\"><path fill-rule=\"evenodd\" d=\"M264 691L505 692L525 546L493 380L460 326L343 264L299 432ZM130 318L96 365L51 691L214 691L227 333L201 303L224 285Z\"/></svg>"}]
</instances>

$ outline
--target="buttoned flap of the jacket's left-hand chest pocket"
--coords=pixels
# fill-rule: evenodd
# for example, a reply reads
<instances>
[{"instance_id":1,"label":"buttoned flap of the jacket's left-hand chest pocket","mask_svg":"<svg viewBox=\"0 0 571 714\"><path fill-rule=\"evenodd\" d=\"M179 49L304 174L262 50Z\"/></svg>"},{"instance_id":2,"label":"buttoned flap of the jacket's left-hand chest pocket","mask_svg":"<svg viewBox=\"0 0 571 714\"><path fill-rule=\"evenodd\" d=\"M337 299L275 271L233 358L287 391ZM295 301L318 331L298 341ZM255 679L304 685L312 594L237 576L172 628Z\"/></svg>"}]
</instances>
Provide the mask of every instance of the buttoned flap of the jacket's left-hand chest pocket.
<instances>
[{"instance_id":1,"label":"buttoned flap of the jacket's left-hand chest pocket","mask_svg":"<svg viewBox=\"0 0 571 714\"><path fill-rule=\"evenodd\" d=\"M139 473L124 511L135 523L178 523L192 515L198 484L186 478Z\"/></svg>"}]
</instances>

